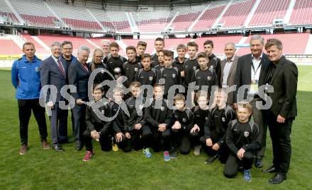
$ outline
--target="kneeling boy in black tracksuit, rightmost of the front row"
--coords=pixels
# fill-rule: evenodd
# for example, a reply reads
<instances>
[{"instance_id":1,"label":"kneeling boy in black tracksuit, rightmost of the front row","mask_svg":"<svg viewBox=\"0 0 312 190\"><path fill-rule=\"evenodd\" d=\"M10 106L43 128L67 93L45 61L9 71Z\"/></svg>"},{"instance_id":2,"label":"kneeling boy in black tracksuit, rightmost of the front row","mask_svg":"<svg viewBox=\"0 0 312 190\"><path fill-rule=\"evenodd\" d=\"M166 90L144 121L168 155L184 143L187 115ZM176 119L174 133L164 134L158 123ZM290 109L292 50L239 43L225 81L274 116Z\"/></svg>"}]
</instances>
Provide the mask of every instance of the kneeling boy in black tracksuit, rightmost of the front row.
<instances>
[{"instance_id":1,"label":"kneeling boy in black tracksuit, rightmost of the front row","mask_svg":"<svg viewBox=\"0 0 312 190\"><path fill-rule=\"evenodd\" d=\"M255 153L260 148L261 137L257 124L250 121L252 106L249 103L238 103L238 119L230 121L226 131L226 144L230 148L230 155L226 160L223 174L233 178L238 174L238 168L243 166L243 179L250 182L250 168Z\"/></svg>"}]
</instances>

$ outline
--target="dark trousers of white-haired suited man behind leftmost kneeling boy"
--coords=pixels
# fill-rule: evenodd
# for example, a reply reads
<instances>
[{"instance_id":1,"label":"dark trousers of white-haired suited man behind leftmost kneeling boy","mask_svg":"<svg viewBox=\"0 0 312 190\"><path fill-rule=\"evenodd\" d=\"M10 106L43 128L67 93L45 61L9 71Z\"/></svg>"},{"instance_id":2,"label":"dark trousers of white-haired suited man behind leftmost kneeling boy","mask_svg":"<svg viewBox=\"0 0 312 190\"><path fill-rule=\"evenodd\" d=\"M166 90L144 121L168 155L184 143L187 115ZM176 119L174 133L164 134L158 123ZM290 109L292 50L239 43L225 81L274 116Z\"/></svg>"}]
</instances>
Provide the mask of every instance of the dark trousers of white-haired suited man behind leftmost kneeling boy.
<instances>
[{"instance_id":1,"label":"dark trousers of white-haired suited man behind leftmost kneeling boy","mask_svg":"<svg viewBox=\"0 0 312 190\"><path fill-rule=\"evenodd\" d=\"M74 105L72 113L74 115L74 140L82 141L82 133L87 129L86 127L86 108L87 105Z\"/></svg>"}]
</instances>

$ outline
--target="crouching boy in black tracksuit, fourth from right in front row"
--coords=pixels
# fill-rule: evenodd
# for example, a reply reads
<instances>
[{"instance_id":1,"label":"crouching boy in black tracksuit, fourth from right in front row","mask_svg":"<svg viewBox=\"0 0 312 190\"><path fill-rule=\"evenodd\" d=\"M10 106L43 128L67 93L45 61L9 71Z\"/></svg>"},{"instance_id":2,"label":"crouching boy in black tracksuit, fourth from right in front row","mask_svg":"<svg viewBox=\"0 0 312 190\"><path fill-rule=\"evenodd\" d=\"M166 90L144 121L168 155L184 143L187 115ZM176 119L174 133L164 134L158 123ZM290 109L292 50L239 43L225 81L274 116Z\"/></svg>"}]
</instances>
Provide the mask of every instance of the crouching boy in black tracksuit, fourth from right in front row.
<instances>
[{"instance_id":1,"label":"crouching boy in black tracksuit, fourth from right in front row","mask_svg":"<svg viewBox=\"0 0 312 190\"><path fill-rule=\"evenodd\" d=\"M191 109L185 107L185 97L181 93L174 96L174 105L177 108L172 112L172 153L170 158L177 158L177 148L180 153L188 154L191 150L191 144L194 143L191 129L194 122L194 114Z\"/></svg>"}]
</instances>

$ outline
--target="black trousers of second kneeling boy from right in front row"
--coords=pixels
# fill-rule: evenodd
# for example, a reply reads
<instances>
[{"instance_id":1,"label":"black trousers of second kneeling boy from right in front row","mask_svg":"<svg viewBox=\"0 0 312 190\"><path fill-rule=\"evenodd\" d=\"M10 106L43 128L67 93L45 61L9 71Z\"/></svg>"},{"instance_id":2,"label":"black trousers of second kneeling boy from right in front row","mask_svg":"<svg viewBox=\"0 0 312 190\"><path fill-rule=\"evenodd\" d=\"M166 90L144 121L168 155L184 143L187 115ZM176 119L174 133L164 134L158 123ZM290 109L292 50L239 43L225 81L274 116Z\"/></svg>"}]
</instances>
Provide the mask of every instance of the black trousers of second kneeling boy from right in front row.
<instances>
[{"instance_id":1,"label":"black trousers of second kneeling boy from right in front row","mask_svg":"<svg viewBox=\"0 0 312 190\"><path fill-rule=\"evenodd\" d=\"M216 143L217 141L212 139L212 143ZM226 160L228 159L229 149L225 142L223 142L218 150L213 150L212 146L206 145L206 138L205 136L202 136L200 138L201 141L201 147L205 151L205 153L209 156L216 156L220 160L221 163L225 164Z\"/></svg>"}]
</instances>

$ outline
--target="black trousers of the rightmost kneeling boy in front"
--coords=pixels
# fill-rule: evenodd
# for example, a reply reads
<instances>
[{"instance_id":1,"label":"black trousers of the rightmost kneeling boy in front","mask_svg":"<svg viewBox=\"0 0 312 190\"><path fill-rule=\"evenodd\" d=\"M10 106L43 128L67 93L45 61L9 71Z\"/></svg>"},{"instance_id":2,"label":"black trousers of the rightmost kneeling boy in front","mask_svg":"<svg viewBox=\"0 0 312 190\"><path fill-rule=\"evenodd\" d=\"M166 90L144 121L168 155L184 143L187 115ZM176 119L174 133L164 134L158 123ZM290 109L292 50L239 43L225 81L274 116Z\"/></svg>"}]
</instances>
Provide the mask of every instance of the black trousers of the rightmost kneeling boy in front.
<instances>
[{"instance_id":1,"label":"black trousers of the rightmost kneeling boy in front","mask_svg":"<svg viewBox=\"0 0 312 190\"><path fill-rule=\"evenodd\" d=\"M240 166L242 166L244 170L250 170L254 158L255 154L247 151L244 153L242 160L240 160L234 153L230 153L230 155L228 155L228 160L226 160L223 174L225 177L233 178L238 175L238 169Z\"/></svg>"}]
</instances>

